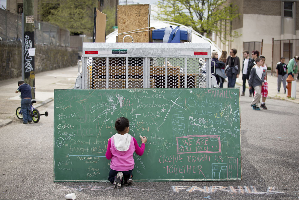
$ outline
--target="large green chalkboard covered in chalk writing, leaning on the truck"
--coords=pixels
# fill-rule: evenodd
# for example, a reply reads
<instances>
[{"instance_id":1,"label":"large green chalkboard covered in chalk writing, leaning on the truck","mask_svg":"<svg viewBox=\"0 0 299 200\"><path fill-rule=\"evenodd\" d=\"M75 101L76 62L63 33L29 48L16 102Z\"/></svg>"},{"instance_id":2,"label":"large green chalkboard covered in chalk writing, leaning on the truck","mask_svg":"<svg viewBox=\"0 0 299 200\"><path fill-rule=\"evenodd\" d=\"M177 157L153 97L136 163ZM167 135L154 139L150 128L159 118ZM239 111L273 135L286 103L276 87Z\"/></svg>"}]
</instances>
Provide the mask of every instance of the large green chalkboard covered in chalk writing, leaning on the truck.
<instances>
[{"instance_id":1,"label":"large green chalkboard covered in chalk writing, leaning on the truck","mask_svg":"<svg viewBox=\"0 0 299 200\"><path fill-rule=\"evenodd\" d=\"M241 179L238 88L54 91L54 181L108 181L107 140L126 117L134 181Z\"/></svg>"}]
</instances>

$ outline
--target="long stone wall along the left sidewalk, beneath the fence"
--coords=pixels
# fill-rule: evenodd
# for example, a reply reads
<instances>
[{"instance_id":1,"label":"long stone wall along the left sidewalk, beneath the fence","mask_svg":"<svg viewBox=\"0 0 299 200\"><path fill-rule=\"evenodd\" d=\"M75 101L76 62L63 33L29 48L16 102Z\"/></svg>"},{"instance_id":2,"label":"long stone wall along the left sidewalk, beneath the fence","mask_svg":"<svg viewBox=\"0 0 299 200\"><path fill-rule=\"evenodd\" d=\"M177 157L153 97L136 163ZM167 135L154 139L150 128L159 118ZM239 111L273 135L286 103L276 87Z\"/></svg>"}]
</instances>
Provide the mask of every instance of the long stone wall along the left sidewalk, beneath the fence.
<instances>
[{"instance_id":1,"label":"long stone wall along the left sidewalk, beneath the fence","mask_svg":"<svg viewBox=\"0 0 299 200\"><path fill-rule=\"evenodd\" d=\"M35 45L35 48L35 73L77 64L77 49L48 45ZM22 76L22 44L20 41L0 42L0 74L0 80Z\"/></svg>"}]
</instances>

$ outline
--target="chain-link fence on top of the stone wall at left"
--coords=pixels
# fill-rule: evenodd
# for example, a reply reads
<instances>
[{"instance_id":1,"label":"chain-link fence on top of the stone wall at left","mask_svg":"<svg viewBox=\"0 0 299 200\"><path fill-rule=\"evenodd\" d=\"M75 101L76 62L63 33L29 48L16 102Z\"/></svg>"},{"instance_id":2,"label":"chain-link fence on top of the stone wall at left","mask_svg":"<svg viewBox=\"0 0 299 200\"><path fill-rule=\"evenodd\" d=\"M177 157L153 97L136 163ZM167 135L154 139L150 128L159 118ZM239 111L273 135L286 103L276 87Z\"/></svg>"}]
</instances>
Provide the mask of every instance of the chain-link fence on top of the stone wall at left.
<instances>
[{"instance_id":1,"label":"chain-link fence on top of the stone wall at left","mask_svg":"<svg viewBox=\"0 0 299 200\"><path fill-rule=\"evenodd\" d=\"M0 37L4 41L22 39L22 17L0 9ZM47 22L35 21L35 44L70 46L70 32Z\"/></svg>"}]
</instances>

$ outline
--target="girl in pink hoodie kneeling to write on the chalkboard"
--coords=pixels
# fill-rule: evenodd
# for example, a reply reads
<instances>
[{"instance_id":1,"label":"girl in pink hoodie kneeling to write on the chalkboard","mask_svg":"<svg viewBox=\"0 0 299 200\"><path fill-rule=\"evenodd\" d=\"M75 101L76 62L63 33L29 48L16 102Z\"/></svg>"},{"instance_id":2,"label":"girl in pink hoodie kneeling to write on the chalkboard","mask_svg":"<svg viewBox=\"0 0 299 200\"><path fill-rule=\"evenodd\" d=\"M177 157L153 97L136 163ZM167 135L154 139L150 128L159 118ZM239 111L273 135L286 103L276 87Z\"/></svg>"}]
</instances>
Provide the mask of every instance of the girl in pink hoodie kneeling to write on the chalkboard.
<instances>
[{"instance_id":1,"label":"girl in pink hoodie kneeling to write on the chalkboard","mask_svg":"<svg viewBox=\"0 0 299 200\"><path fill-rule=\"evenodd\" d=\"M129 120L120 117L115 121L115 129L118 133L108 140L106 158L111 159L108 180L113 183L115 189L119 189L123 184L133 183L134 151L142 156L147 142L146 137L141 138L141 147L138 146L136 139L129 132Z\"/></svg>"}]
</instances>

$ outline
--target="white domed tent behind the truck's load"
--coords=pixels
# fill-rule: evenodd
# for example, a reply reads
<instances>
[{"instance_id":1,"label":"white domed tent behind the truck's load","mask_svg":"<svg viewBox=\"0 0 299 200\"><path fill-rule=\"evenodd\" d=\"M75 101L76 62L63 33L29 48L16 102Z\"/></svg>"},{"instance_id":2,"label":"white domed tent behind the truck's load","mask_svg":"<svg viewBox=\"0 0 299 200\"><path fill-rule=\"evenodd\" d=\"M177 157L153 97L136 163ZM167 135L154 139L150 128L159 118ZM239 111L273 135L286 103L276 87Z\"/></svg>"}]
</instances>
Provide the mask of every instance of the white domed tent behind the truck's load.
<instances>
[{"instance_id":1,"label":"white domed tent behind the truck's load","mask_svg":"<svg viewBox=\"0 0 299 200\"><path fill-rule=\"evenodd\" d=\"M168 21L151 20L150 23L151 23L151 27L155 27L155 28L165 28L165 27L169 27L170 25L180 26L182 28L189 28L192 31L192 34L191 34L191 42L192 43L210 43L211 51L213 51L213 50L217 51L219 58L220 58L220 55L222 53L221 49L215 43L213 43L209 38L194 31L193 28L187 27L182 24L175 23L175 22L168 22ZM114 43L117 34L118 34L118 31L115 30L112 33L110 33L109 35L107 35L106 42Z\"/></svg>"}]
</instances>

